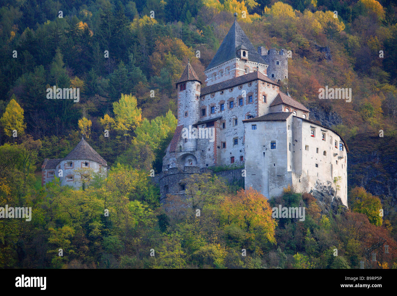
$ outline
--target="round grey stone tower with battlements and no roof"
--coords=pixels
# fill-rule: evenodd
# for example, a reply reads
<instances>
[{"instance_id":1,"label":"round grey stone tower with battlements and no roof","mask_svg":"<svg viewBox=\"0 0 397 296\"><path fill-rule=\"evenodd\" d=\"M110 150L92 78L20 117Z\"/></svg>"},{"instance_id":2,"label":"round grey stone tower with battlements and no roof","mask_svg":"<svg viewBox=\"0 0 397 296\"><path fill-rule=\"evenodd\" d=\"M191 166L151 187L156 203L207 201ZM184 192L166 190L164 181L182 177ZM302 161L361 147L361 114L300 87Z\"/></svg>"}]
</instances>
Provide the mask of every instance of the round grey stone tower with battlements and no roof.
<instances>
[{"instance_id":1,"label":"round grey stone tower with battlements and no roof","mask_svg":"<svg viewBox=\"0 0 397 296\"><path fill-rule=\"evenodd\" d=\"M285 49L276 50L272 48L267 50L265 46L258 47L258 54L268 63L268 77L277 83L283 79L288 79L288 55Z\"/></svg>"}]
</instances>

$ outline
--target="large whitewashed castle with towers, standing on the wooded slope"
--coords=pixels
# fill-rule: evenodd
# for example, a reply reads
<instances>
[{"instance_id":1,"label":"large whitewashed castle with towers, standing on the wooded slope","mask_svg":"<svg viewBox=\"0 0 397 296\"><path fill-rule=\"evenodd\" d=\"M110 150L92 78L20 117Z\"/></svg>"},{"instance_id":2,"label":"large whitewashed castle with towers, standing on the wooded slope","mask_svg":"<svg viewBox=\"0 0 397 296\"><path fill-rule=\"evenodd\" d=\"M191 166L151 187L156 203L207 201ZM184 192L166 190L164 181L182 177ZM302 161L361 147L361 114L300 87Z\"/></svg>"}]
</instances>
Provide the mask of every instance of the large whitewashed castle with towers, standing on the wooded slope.
<instances>
[{"instance_id":1,"label":"large whitewashed castle with towers, standing on the wooded slope","mask_svg":"<svg viewBox=\"0 0 397 296\"><path fill-rule=\"evenodd\" d=\"M204 74L201 88L188 62L175 84L178 122L163 158L162 198L184 194L189 174L235 166L244 168L245 188L267 198L288 186L297 192L332 186L347 206L348 147L281 92L288 78L285 50L256 51L235 19Z\"/></svg>"}]
</instances>

